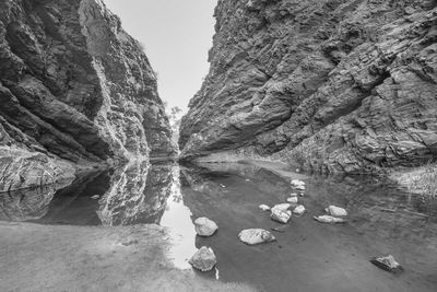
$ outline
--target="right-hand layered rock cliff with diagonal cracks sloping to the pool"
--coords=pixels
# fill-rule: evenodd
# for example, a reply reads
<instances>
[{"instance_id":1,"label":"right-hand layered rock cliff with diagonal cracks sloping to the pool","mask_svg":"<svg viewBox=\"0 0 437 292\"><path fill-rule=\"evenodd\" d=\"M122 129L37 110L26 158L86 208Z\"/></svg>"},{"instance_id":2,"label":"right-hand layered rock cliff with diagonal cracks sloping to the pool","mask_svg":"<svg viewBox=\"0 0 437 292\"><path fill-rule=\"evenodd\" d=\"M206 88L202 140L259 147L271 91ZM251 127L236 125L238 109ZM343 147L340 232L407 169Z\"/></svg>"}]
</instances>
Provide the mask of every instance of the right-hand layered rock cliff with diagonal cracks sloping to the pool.
<instances>
[{"instance_id":1,"label":"right-hand layered rock cliff with diagonal cracks sloping to the pool","mask_svg":"<svg viewBox=\"0 0 437 292\"><path fill-rule=\"evenodd\" d=\"M437 2L220 0L186 160L375 173L437 157Z\"/></svg>"}]
</instances>

